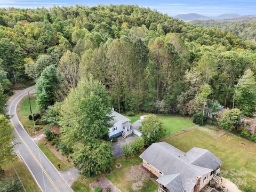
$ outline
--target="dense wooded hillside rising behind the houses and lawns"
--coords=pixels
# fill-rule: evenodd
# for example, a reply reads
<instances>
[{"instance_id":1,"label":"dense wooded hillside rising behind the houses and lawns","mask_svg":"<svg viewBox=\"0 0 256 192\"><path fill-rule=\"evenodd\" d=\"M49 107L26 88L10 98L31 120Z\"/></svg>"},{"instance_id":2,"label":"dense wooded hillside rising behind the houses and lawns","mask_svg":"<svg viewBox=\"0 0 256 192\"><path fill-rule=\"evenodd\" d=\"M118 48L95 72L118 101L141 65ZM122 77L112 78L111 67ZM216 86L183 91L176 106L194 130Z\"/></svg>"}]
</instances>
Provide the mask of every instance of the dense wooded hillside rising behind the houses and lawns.
<instances>
[{"instance_id":1,"label":"dense wooded hillside rising behind the houses and lawns","mask_svg":"<svg viewBox=\"0 0 256 192\"><path fill-rule=\"evenodd\" d=\"M47 85L42 109L92 75L118 111L192 115L208 99L238 106L238 80L255 72L255 43L136 5L1 9L0 23L5 79Z\"/></svg>"}]
</instances>

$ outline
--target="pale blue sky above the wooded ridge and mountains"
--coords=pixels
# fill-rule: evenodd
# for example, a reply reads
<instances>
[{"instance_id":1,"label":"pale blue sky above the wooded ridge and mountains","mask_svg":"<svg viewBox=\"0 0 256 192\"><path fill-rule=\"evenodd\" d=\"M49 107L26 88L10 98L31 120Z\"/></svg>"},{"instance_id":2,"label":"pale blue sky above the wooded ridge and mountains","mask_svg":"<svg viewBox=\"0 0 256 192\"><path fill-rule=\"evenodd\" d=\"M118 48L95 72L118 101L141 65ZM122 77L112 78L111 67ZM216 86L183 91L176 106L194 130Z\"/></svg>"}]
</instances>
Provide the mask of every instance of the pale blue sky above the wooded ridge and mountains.
<instances>
[{"instance_id":1,"label":"pale blue sky above the wooded ridge and mountains","mask_svg":"<svg viewBox=\"0 0 256 192\"><path fill-rule=\"evenodd\" d=\"M225 13L241 15L256 14L256 0L0 0L0 7L51 7L71 5L94 6L97 4L137 4L170 16L186 13L198 13L206 16L217 16Z\"/></svg>"}]
</instances>

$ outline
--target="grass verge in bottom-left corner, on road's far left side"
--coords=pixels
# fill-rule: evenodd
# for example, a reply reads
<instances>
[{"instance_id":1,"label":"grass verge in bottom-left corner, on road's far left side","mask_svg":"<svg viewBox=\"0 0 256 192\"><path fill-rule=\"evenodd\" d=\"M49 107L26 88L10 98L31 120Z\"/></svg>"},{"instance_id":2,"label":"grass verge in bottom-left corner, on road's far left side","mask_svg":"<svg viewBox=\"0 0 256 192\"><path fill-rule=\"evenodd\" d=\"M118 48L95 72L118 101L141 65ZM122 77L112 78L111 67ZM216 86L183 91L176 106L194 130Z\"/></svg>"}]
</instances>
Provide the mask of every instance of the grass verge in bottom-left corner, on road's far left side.
<instances>
[{"instance_id":1,"label":"grass verge in bottom-left corner, on road's far left side","mask_svg":"<svg viewBox=\"0 0 256 192\"><path fill-rule=\"evenodd\" d=\"M12 163L9 163L8 165L4 166L4 174L0 175L0 180L4 177L16 177L17 174L15 173L15 170L17 171L20 180L25 187L27 192L40 192L41 190L37 186L36 181L33 179L32 175L28 171L25 164L23 164L20 159L16 158L15 161ZM25 191L22 189L22 191Z\"/></svg>"}]
</instances>

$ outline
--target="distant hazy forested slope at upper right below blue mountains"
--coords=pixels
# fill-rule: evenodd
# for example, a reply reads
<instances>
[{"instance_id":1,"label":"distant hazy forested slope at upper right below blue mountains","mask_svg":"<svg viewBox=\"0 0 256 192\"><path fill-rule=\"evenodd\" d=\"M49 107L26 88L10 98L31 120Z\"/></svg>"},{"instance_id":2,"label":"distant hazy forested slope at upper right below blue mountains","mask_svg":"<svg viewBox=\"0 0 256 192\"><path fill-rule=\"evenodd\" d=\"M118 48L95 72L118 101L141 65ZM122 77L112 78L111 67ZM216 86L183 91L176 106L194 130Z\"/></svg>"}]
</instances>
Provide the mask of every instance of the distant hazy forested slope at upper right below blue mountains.
<instances>
[{"instance_id":1,"label":"distant hazy forested slope at upper right below blue mountains","mask_svg":"<svg viewBox=\"0 0 256 192\"><path fill-rule=\"evenodd\" d=\"M219 28L222 31L230 31L244 39L256 42L256 18L254 20L207 20L207 21L190 21L191 25L197 25L207 28Z\"/></svg>"}]
</instances>

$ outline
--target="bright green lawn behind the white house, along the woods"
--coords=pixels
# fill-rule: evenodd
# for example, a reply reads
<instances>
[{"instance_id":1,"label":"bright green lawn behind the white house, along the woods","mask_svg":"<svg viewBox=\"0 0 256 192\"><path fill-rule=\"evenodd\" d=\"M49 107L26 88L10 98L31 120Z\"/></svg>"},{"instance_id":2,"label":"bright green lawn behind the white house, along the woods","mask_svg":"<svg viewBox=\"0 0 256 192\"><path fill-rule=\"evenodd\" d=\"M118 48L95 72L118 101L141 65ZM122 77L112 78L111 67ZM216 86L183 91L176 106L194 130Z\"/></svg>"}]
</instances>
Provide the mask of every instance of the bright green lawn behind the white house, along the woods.
<instances>
[{"instance_id":1,"label":"bright green lawn behind the white house, along the woods","mask_svg":"<svg viewBox=\"0 0 256 192\"><path fill-rule=\"evenodd\" d=\"M131 123L137 121L140 116L143 114L138 114L134 116L127 116L131 119ZM179 117L179 116L167 116L167 115L157 115L163 123L163 128L166 130L165 135L169 136L175 132L178 132L182 129L186 129L195 125L190 119Z\"/></svg>"}]
</instances>

